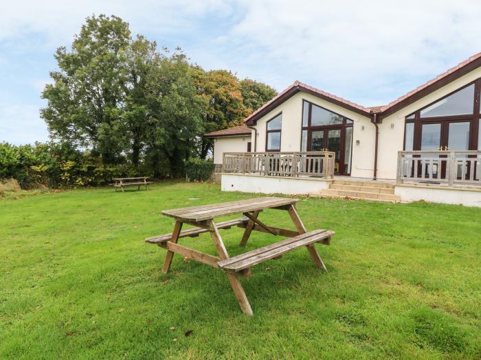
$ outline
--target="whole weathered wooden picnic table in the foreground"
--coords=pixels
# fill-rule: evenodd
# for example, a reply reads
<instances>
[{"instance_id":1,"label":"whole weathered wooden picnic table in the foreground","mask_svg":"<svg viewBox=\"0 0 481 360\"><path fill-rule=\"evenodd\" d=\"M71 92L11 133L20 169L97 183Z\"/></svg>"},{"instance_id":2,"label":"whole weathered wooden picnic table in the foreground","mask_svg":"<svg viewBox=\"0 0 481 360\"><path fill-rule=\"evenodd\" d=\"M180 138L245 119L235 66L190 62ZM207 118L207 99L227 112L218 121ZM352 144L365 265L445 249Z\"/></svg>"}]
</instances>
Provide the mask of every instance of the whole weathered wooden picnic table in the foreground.
<instances>
[{"instance_id":1,"label":"whole weathered wooden picnic table in the foreground","mask_svg":"<svg viewBox=\"0 0 481 360\"><path fill-rule=\"evenodd\" d=\"M305 246L307 250L309 250L309 254L311 254L315 265L327 271L326 265L324 265L324 262L317 253L314 244L322 243L329 245L331 236L334 235L335 232L330 230L313 230L306 232L306 228L304 224L302 224L302 220L295 208L295 203L298 201L298 199L284 197L258 197L256 199L238 200L221 204L165 210L162 211L163 215L175 219L173 232L166 235L149 237L146 239L146 242L159 245L161 248L167 250L166 260L162 267L164 274L168 272L174 254L181 254L187 259L222 269L227 274L227 278L229 278L240 309L242 309L246 315L253 315L249 300L247 300L247 296L239 281L240 276L250 277L250 268L252 266L269 259L280 259L282 254ZM287 211L296 230L276 228L260 221L260 219L258 219L260 213L267 208ZM214 221L216 217L238 213L244 216L233 220ZM183 224L189 224L195 227L182 230ZM241 246L246 245L252 231L267 232L271 235L288 237L288 239L230 257L225 249L219 230L229 229L232 228L232 226L245 228L243 237L240 240ZM177 243L182 237L197 237L205 232L210 233L210 237L212 237L212 241L214 241L219 256L199 252Z\"/></svg>"}]
</instances>

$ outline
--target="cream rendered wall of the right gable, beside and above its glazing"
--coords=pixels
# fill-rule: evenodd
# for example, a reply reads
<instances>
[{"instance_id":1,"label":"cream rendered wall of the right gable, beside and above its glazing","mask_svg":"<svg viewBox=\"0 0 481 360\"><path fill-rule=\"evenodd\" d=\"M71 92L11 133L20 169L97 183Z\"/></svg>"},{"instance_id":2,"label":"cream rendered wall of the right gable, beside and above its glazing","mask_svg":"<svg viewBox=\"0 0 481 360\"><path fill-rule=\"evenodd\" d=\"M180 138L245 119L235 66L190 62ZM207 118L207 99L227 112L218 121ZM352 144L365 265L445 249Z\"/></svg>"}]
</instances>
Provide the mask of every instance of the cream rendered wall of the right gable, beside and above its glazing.
<instances>
[{"instance_id":1,"label":"cream rendered wall of the right gable, beside and above its glazing","mask_svg":"<svg viewBox=\"0 0 481 360\"><path fill-rule=\"evenodd\" d=\"M379 125L378 178L396 178L397 152L401 151L404 145L405 117L480 77L481 68L475 69L433 93L415 101L413 104L410 104L410 106L406 106L394 112L394 114L385 117L383 123ZM355 152L355 147L353 152Z\"/></svg>"}]
</instances>

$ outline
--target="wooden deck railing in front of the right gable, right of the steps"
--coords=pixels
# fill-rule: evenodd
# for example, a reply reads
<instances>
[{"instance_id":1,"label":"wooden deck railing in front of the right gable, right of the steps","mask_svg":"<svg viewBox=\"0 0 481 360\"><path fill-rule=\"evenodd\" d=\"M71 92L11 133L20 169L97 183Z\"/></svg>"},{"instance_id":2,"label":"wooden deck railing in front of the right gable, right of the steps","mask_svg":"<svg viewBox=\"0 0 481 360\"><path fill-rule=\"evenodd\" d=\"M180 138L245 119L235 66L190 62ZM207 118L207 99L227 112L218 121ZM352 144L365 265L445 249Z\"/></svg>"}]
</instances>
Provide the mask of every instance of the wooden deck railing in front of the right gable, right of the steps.
<instances>
[{"instance_id":1,"label":"wooden deck railing in front of the right gable, right of the steps","mask_svg":"<svg viewBox=\"0 0 481 360\"><path fill-rule=\"evenodd\" d=\"M481 187L481 151L399 152L397 182Z\"/></svg>"}]
</instances>

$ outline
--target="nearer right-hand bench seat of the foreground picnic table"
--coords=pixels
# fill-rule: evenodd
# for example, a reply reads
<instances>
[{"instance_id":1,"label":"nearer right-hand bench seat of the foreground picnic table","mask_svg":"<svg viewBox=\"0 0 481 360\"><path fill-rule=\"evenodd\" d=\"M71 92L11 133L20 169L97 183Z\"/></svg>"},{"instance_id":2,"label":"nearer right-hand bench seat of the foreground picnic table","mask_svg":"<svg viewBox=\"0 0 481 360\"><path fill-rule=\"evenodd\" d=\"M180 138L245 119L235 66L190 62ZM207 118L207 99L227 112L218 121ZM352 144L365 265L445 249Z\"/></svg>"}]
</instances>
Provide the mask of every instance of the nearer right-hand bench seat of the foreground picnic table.
<instances>
[{"instance_id":1,"label":"nearer right-hand bench seat of the foreground picnic table","mask_svg":"<svg viewBox=\"0 0 481 360\"><path fill-rule=\"evenodd\" d=\"M331 230L313 230L310 232L304 232L304 234L296 237L291 237L289 239L279 241L278 243L273 243L256 250L245 252L244 254L219 261L217 265L219 265L221 269L224 269L228 272L241 272L258 263L279 258L282 256L282 254L302 248L303 246L309 246L313 243L323 243L324 245L329 245L331 242L331 236L334 234L335 232Z\"/></svg>"}]
</instances>

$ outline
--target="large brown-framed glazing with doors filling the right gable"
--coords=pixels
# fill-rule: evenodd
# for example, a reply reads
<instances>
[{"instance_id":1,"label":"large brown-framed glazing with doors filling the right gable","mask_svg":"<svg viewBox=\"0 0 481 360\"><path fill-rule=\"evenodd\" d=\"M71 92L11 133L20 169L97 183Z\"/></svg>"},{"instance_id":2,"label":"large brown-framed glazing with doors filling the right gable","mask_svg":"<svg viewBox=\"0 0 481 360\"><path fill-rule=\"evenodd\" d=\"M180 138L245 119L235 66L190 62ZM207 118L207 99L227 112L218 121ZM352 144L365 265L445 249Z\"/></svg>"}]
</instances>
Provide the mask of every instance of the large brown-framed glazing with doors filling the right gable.
<instances>
[{"instance_id":1,"label":"large brown-framed glazing with doors filling the right gable","mask_svg":"<svg viewBox=\"0 0 481 360\"><path fill-rule=\"evenodd\" d=\"M481 149L481 79L405 118L404 149Z\"/></svg>"}]
</instances>

